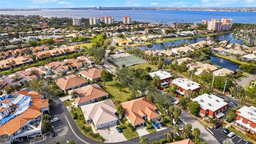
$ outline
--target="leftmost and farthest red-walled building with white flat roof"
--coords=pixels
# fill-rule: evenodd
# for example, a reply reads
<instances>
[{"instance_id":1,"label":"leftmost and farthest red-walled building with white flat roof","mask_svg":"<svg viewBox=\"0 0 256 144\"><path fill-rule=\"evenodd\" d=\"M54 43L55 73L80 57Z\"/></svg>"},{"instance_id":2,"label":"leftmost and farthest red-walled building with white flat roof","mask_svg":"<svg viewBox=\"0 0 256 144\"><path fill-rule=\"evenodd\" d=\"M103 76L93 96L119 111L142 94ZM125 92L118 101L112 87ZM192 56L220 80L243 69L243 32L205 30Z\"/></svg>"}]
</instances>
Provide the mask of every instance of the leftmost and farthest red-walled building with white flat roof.
<instances>
[{"instance_id":1,"label":"leftmost and farthest red-walled building with white flat roof","mask_svg":"<svg viewBox=\"0 0 256 144\"><path fill-rule=\"evenodd\" d=\"M159 76L160 80L162 80L161 86L167 86L170 85L173 77L172 74L168 72L163 72L161 70L158 70L156 72L150 72L149 75L153 78L154 76Z\"/></svg>"}]
</instances>

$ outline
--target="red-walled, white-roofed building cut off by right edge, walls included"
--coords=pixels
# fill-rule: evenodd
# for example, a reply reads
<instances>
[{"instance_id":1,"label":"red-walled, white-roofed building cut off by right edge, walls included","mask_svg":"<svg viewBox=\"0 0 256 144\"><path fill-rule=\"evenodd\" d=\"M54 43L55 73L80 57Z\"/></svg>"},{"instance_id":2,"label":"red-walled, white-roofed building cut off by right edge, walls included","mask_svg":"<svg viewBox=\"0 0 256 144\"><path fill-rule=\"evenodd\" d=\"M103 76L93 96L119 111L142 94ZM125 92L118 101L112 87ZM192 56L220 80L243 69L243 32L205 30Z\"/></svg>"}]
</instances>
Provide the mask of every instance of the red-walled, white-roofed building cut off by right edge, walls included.
<instances>
[{"instance_id":1,"label":"red-walled, white-roofed building cut off by right edge, walls included","mask_svg":"<svg viewBox=\"0 0 256 144\"><path fill-rule=\"evenodd\" d=\"M256 134L256 107L243 106L236 111L235 125Z\"/></svg>"}]
</instances>

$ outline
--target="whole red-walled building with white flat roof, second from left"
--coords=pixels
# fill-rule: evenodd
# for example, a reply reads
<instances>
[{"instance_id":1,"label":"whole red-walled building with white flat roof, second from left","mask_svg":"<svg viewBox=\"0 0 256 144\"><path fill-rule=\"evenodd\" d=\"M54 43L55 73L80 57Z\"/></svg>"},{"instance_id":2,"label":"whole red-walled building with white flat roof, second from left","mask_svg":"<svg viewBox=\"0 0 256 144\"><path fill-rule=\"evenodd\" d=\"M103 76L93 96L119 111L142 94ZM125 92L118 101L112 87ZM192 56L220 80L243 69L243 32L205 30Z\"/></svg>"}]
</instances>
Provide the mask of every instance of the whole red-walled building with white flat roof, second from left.
<instances>
[{"instance_id":1,"label":"whole red-walled building with white flat roof, second from left","mask_svg":"<svg viewBox=\"0 0 256 144\"><path fill-rule=\"evenodd\" d=\"M176 92L180 95L186 94L187 90L190 90L190 92L199 92L201 89L200 84L186 78L176 78L172 80L170 86L173 85L178 86Z\"/></svg>"}]
</instances>

